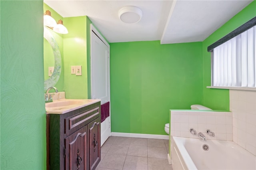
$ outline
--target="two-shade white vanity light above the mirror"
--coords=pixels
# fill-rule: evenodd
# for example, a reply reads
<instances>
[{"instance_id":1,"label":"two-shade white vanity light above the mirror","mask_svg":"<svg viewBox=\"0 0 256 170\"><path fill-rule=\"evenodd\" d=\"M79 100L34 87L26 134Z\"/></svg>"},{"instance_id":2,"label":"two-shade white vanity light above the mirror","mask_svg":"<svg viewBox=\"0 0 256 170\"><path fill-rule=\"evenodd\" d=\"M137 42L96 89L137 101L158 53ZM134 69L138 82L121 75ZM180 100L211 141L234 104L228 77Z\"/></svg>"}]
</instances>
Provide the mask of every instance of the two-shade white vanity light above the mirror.
<instances>
[{"instance_id":1,"label":"two-shade white vanity light above the mirror","mask_svg":"<svg viewBox=\"0 0 256 170\"><path fill-rule=\"evenodd\" d=\"M54 32L60 34L68 34L68 29L63 25L63 21L59 20L58 23L52 18L51 12L46 10L44 13L44 26L51 28Z\"/></svg>"}]
</instances>

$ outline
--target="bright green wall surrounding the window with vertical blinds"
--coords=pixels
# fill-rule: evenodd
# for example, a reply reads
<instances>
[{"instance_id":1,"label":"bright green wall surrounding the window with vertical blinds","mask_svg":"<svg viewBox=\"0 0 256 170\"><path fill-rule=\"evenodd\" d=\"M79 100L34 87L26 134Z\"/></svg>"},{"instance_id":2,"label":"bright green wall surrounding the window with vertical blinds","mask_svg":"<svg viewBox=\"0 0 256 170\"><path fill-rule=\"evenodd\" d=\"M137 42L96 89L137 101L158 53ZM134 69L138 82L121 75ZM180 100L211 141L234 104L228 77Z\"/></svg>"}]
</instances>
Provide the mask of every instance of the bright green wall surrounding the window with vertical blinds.
<instances>
[{"instance_id":1,"label":"bright green wall surrounding the window with vertical blinds","mask_svg":"<svg viewBox=\"0 0 256 170\"><path fill-rule=\"evenodd\" d=\"M207 47L255 16L256 0L203 41L203 104L206 107L218 110L229 110L229 90L206 88L206 86L211 86L211 54L207 51Z\"/></svg>"}]
</instances>

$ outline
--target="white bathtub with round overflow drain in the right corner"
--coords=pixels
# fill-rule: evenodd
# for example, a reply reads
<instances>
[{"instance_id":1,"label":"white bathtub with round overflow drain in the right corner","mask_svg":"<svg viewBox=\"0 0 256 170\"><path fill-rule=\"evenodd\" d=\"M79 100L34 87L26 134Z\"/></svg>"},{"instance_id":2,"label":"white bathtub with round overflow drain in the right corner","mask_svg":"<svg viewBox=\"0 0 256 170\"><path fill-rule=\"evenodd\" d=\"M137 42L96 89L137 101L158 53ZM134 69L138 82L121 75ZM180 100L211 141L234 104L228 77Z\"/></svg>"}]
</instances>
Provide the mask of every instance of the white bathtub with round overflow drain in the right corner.
<instances>
[{"instance_id":1,"label":"white bathtub with round overflow drain in the right corner","mask_svg":"<svg viewBox=\"0 0 256 170\"><path fill-rule=\"evenodd\" d=\"M172 136L172 168L173 170L255 170L256 156L232 141L203 141Z\"/></svg>"}]
</instances>

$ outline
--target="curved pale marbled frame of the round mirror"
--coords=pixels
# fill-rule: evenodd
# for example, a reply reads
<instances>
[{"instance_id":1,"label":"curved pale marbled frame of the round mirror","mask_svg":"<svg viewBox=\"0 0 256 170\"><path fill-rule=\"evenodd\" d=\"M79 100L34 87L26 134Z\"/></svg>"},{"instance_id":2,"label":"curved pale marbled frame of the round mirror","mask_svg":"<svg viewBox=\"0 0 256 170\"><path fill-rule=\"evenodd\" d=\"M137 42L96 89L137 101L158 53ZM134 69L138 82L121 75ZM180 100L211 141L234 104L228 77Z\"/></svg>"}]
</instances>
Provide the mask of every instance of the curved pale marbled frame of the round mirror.
<instances>
[{"instance_id":1,"label":"curved pale marbled frame of the round mirror","mask_svg":"<svg viewBox=\"0 0 256 170\"><path fill-rule=\"evenodd\" d=\"M54 54L54 71L49 79L44 81L44 90L56 85L61 73L61 54L58 43L50 33L50 30L44 26L44 38L50 43Z\"/></svg>"}]
</instances>

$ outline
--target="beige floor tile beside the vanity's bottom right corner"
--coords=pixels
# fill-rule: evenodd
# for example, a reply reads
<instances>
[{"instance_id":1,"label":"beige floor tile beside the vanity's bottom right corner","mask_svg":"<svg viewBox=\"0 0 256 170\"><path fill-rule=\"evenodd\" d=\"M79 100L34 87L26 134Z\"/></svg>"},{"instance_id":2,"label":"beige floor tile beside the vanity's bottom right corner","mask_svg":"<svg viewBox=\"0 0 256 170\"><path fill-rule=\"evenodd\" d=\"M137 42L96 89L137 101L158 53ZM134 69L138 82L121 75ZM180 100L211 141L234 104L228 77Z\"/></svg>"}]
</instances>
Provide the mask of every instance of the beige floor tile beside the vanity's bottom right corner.
<instances>
[{"instance_id":1,"label":"beige floor tile beside the vanity's bottom right corner","mask_svg":"<svg viewBox=\"0 0 256 170\"><path fill-rule=\"evenodd\" d=\"M126 155L106 154L98 168L122 170Z\"/></svg>"}]
</instances>

